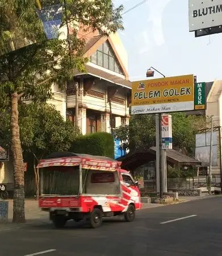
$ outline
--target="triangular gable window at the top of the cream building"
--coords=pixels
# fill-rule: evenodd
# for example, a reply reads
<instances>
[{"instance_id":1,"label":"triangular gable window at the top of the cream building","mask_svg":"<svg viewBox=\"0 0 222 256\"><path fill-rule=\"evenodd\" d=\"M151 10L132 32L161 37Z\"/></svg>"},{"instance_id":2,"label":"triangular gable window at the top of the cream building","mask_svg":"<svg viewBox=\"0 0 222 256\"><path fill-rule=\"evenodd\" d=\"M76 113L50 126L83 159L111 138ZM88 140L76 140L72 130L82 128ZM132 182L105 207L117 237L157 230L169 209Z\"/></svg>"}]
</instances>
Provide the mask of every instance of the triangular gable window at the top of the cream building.
<instances>
[{"instance_id":1,"label":"triangular gable window at the top of the cream building","mask_svg":"<svg viewBox=\"0 0 222 256\"><path fill-rule=\"evenodd\" d=\"M116 60L114 52L112 52L108 42L103 43L102 46L100 46L98 50L91 55L90 61L91 63L97 64L100 67L123 75L118 60Z\"/></svg>"}]
</instances>

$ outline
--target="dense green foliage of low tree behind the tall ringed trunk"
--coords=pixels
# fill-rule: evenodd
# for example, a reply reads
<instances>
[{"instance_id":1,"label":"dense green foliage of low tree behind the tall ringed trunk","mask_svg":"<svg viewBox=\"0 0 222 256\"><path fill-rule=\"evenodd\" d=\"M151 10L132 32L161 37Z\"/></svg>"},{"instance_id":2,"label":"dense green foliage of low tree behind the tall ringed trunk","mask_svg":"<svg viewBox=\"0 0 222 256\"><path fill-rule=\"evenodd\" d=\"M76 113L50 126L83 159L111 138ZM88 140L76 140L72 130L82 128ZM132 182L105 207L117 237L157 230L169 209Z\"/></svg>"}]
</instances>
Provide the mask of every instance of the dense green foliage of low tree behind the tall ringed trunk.
<instances>
[{"instance_id":1,"label":"dense green foliage of low tree behind the tall ringed trunk","mask_svg":"<svg viewBox=\"0 0 222 256\"><path fill-rule=\"evenodd\" d=\"M24 156L35 154L37 159L51 152L67 151L80 135L72 123L64 121L60 112L49 104L21 104L19 106L20 139ZM2 115L3 145L9 146L10 114Z\"/></svg>"}]
</instances>

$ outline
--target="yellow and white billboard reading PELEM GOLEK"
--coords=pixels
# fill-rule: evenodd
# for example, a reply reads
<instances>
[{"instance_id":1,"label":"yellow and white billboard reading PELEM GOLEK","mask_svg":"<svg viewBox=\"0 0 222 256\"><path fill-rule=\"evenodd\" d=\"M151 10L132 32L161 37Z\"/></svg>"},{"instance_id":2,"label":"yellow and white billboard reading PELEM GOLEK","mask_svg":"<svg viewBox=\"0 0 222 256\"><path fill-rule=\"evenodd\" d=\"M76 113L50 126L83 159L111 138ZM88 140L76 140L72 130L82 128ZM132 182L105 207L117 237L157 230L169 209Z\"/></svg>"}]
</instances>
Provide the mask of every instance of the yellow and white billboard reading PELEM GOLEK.
<instances>
[{"instance_id":1,"label":"yellow and white billboard reading PELEM GOLEK","mask_svg":"<svg viewBox=\"0 0 222 256\"><path fill-rule=\"evenodd\" d=\"M194 110L194 75L132 82L131 114Z\"/></svg>"}]
</instances>

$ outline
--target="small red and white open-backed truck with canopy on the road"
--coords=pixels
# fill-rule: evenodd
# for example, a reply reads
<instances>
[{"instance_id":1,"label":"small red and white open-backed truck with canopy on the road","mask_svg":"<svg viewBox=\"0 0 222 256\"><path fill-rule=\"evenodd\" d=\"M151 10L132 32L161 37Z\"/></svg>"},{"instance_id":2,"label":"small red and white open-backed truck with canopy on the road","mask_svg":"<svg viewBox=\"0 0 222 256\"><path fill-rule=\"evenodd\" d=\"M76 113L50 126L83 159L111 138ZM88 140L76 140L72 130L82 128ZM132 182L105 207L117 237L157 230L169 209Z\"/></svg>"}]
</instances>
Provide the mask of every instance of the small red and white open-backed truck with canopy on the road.
<instances>
[{"instance_id":1,"label":"small red and white open-backed truck with canopy on the road","mask_svg":"<svg viewBox=\"0 0 222 256\"><path fill-rule=\"evenodd\" d=\"M48 211L56 228L66 221L87 220L91 228L103 217L123 215L135 219L141 208L138 182L121 163L104 156L53 153L40 160L39 207Z\"/></svg>"}]
</instances>

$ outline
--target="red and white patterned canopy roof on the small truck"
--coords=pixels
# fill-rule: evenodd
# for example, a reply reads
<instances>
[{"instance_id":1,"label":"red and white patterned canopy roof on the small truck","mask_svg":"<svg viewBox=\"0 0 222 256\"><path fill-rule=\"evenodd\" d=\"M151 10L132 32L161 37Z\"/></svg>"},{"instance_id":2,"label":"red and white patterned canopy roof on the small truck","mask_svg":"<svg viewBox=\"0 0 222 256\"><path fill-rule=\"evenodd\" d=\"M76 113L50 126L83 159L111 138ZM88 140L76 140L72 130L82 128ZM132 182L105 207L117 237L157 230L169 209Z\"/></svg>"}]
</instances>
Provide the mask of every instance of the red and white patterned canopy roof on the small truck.
<instances>
[{"instance_id":1,"label":"red and white patterned canopy roof on the small truck","mask_svg":"<svg viewBox=\"0 0 222 256\"><path fill-rule=\"evenodd\" d=\"M79 164L82 164L82 169L116 171L122 162L118 162L106 156L76 154L73 152L56 152L41 159L37 167L79 166Z\"/></svg>"}]
</instances>

